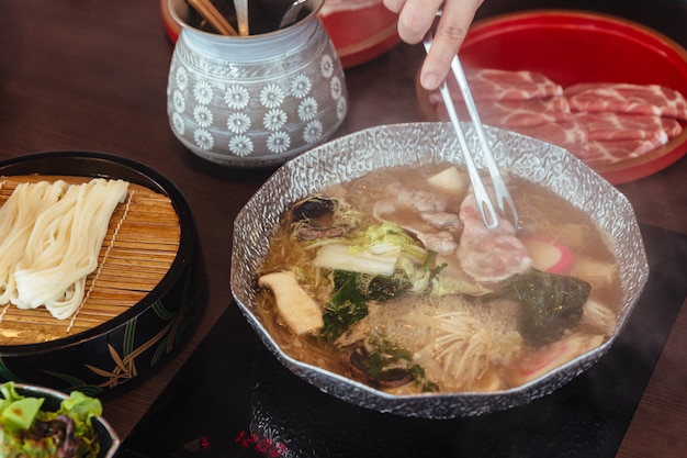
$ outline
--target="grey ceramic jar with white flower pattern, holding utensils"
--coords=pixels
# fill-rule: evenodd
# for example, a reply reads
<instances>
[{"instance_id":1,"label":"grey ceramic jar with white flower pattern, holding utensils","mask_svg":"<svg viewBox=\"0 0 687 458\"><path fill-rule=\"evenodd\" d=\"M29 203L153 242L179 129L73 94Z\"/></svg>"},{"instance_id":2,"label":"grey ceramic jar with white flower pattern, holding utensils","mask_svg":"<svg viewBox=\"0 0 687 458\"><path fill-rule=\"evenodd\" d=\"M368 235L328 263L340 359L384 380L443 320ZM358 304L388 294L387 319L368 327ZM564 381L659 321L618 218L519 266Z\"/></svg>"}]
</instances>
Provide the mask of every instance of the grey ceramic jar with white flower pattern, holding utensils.
<instances>
[{"instance_id":1,"label":"grey ceramic jar with white flower pattern, holding utensils","mask_svg":"<svg viewBox=\"0 0 687 458\"><path fill-rule=\"evenodd\" d=\"M329 139L348 111L341 64L317 10L285 29L223 36L182 26L167 86L173 134L191 152L234 167L284 163Z\"/></svg>"}]
</instances>

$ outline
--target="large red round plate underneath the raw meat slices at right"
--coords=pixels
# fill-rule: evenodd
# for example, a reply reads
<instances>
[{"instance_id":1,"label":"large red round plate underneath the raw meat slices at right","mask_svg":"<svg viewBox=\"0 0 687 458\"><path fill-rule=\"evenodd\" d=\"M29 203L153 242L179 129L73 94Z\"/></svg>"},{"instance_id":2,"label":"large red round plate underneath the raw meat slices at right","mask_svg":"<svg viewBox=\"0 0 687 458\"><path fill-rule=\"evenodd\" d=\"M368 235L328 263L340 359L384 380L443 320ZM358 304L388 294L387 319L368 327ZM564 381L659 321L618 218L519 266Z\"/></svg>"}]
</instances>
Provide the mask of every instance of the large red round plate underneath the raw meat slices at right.
<instances>
[{"instance_id":1,"label":"large red round plate underneath the raw meat slices at right","mask_svg":"<svg viewBox=\"0 0 687 458\"><path fill-rule=\"evenodd\" d=\"M544 10L486 19L473 24L460 55L465 66L540 71L564 87L654 83L687 96L685 48L644 25L604 14ZM418 85L420 108L436 120L427 97ZM687 129L643 156L595 169L619 185L655 174L686 153Z\"/></svg>"}]
</instances>

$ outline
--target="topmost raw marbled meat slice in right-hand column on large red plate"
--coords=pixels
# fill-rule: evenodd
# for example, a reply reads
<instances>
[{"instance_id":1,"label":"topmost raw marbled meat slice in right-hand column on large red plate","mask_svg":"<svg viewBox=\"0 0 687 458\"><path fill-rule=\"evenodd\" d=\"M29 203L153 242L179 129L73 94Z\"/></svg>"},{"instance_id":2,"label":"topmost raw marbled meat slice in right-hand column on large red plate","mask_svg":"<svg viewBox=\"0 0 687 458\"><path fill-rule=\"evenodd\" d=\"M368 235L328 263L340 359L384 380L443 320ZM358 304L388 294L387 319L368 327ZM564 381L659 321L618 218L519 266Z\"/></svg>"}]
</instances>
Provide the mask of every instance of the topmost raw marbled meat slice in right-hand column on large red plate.
<instances>
[{"instance_id":1,"label":"topmost raw marbled meat slice in right-hand column on large red plate","mask_svg":"<svg viewBox=\"0 0 687 458\"><path fill-rule=\"evenodd\" d=\"M571 86L564 93L573 111L653 114L687 121L687 100L658 85L586 82Z\"/></svg>"}]
</instances>

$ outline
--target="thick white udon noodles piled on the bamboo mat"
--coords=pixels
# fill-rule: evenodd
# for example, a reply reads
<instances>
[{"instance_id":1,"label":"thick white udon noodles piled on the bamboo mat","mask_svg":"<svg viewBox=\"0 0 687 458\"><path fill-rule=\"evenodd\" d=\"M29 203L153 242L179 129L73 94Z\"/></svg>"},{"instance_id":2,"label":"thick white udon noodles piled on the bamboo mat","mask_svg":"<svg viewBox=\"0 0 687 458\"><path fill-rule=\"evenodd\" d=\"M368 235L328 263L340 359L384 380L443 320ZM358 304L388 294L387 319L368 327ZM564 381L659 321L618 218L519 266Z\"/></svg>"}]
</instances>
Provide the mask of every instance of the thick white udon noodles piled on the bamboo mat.
<instances>
[{"instance_id":1,"label":"thick white udon noodles piled on the bamboo mat","mask_svg":"<svg viewBox=\"0 0 687 458\"><path fill-rule=\"evenodd\" d=\"M71 316L127 188L105 179L18 186L0 209L0 304L44 305L56 319Z\"/></svg>"}]
</instances>

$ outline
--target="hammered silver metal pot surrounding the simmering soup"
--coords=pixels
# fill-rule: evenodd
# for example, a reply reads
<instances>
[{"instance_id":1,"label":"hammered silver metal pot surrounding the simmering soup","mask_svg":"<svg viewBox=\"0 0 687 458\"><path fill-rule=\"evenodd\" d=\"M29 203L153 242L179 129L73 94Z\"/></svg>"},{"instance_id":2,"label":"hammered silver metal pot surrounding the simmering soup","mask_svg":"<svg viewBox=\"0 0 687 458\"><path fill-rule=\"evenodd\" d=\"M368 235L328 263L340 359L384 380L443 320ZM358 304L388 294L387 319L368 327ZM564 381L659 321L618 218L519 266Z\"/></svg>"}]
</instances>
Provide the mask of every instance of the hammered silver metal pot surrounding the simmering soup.
<instances>
[{"instance_id":1,"label":"hammered silver metal pot surrounding the simmering soup","mask_svg":"<svg viewBox=\"0 0 687 458\"><path fill-rule=\"evenodd\" d=\"M472 150L480 150L472 126L466 124L465 129L469 146ZM268 332L256 304L257 269L286 209L327 186L349 181L379 168L441 161L463 164L450 124L386 125L335 139L286 163L236 217L232 292L263 344L286 368L322 391L362 407L406 416L449 418L528 403L562 387L606 354L627 323L649 277L644 244L631 204L608 181L563 148L493 127L487 127L486 133L494 156L504 170L545 186L589 214L607 234L618 261L622 288L615 333L599 347L531 382L488 392L395 395L288 355ZM484 168L481 160L476 161Z\"/></svg>"}]
</instances>

